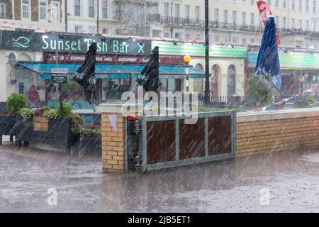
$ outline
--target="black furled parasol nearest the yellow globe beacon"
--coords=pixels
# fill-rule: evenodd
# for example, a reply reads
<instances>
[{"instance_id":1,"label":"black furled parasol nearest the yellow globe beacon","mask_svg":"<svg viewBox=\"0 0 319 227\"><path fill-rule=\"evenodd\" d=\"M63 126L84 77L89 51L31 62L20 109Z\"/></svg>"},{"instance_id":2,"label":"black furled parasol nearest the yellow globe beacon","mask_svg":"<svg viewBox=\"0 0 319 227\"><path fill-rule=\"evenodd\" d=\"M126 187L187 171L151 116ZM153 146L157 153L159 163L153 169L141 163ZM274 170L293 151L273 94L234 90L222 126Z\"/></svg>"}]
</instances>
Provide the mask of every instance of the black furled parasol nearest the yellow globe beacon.
<instances>
[{"instance_id":1,"label":"black furled parasol nearest the yellow globe beacon","mask_svg":"<svg viewBox=\"0 0 319 227\"><path fill-rule=\"evenodd\" d=\"M150 61L142 70L138 79L138 84L144 87L146 92L158 92L159 87L159 48L152 50Z\"/></svg>"}]
</instances>

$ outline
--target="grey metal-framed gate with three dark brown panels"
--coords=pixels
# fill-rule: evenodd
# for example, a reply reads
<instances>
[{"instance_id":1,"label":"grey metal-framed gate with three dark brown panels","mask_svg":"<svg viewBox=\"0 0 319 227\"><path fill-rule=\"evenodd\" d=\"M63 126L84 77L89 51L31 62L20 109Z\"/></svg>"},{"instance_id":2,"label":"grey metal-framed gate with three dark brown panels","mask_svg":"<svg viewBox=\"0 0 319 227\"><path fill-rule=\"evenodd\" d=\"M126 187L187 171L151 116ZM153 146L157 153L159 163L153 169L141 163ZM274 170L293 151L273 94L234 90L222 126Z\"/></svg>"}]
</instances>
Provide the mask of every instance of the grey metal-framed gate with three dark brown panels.
<instances>
[{"instance_id":1,"label":"grey metal-framed gate with three dark brown panels","mask_svg":"<svg viewBox=\"0 0 319 227\"><path fill-rule=\"evenodd\" d=\"M198 114L186 124L184 116L143 116L127 120L127 170L159 170L235 157L236 113Z\"/></svg>"}]
</instances>

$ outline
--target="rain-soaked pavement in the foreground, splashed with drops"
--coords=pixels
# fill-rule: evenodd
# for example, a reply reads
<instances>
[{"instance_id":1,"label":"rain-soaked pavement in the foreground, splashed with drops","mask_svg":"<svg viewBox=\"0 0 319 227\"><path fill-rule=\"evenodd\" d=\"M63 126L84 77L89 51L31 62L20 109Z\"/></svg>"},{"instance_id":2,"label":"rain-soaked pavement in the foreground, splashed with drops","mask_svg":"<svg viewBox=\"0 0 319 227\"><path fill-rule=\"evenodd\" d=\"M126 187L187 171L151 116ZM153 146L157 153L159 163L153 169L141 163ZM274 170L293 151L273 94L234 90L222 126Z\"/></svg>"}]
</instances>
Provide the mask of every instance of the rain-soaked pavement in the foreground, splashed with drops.
<instances>
[{"instance_id":1,"label":"rain-soaked pavement in the foreground, splashed with drops","mask_svg":"<svg viewBox=\"0 0 319 227\"><path fill-rule=\"evenodd\" d=\"M57 206L48 205L48 189L57 190ZM269 203L261 204L264 192ZM319 151L120 175L102 174L101 157L6 144L0 148L0 212L13 211L319 212Z\"/></svg>"}]
</instances>

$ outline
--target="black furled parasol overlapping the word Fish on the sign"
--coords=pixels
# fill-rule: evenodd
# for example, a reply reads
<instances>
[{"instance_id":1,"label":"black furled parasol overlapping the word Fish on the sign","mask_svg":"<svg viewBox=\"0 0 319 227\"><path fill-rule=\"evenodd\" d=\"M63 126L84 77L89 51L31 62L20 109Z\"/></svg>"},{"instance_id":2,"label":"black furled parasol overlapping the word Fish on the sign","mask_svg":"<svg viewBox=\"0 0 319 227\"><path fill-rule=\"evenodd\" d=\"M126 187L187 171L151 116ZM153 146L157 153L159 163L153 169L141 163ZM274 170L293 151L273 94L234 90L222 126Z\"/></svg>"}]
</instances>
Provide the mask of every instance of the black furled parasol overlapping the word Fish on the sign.
<instances>
[{"instance_id":1,"label":"black furled parasol overlapping the word Fish on the sign","mask_svg":"<svg viewBox=\"0 0 319 227\"><path fill-rule=\"evenodd\" d=\"M86 100L90 104L95 100L95 65L96 65L96 43L92 43L89 51L86 53L84 63L74 74L74 81L80 84L85 92Z\"/></svg>"}]
</instances>

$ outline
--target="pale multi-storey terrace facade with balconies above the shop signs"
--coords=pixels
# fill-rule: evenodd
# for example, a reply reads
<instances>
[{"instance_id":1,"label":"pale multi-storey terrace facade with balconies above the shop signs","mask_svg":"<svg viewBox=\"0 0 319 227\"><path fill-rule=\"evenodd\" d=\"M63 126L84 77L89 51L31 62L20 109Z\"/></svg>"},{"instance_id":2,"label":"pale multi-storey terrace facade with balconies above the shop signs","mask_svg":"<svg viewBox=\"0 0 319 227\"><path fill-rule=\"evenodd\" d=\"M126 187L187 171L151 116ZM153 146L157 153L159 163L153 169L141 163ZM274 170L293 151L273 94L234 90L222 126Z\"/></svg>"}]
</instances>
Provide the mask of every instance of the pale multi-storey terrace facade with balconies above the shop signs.
<instances>
[{"instance_id":1,"label":"pale multi-storey terrace facade with balconies above the shop signs","mask_svg":"<svg viewBox=\"0 0 319 227\"><path fill-rule=\"evenodd\" d=\"M319 48L318 0L268 0L282 45ZM204 40L204 1L68 0L70 32ZM211 43L258 44L264 25L256 0L213 0Z\"/></svg>"}]
</instances>

